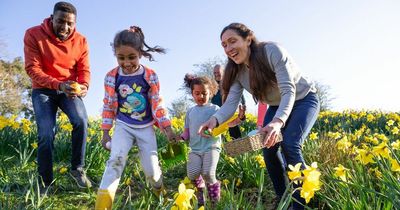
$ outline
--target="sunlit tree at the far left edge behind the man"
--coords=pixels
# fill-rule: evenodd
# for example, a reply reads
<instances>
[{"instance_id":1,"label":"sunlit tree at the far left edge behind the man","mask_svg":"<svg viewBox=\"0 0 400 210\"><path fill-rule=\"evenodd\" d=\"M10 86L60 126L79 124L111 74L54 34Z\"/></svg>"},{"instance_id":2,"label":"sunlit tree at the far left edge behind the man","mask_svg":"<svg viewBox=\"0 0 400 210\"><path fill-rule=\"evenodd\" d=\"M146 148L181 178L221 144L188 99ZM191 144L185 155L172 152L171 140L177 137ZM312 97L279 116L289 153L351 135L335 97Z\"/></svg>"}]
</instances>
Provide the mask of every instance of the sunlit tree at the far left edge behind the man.
<instances>
[{"instance_id":1,"label":"sunlit tree at the far left edge behind the man","mask_svg":"<svg viewBox=\"0 0 400 210\"><path fill-rule=\"evenodd\" d=\"M0 115L22 114L30 118L33 114L30 86L21 57L12 62L0 59Z\"/></svg>"}]
</instances>

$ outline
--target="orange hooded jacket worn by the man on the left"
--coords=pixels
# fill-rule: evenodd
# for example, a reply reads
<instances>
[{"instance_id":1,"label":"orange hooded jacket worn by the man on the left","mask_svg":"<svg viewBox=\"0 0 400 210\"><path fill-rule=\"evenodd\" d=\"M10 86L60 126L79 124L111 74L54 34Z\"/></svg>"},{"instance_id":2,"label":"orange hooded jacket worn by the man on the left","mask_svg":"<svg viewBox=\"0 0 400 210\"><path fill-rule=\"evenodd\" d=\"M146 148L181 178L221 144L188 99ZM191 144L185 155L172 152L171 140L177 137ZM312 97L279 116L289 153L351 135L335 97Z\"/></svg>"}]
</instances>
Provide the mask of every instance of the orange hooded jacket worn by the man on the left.
<instances>
[{"instance_id":1,"label":"orange hooded jacket worn by the man on the left","mask_svg":"<svg viewBox=\"0 0 400 210\"><path fill-rule=\"evenodd\" d=\"M72 80L89 87L89 50L86 38L77 31L61 41L53 32L50 18L32 27L24 37L25 70L32 88L58 90Z\"/></svg>"}]
</instances>

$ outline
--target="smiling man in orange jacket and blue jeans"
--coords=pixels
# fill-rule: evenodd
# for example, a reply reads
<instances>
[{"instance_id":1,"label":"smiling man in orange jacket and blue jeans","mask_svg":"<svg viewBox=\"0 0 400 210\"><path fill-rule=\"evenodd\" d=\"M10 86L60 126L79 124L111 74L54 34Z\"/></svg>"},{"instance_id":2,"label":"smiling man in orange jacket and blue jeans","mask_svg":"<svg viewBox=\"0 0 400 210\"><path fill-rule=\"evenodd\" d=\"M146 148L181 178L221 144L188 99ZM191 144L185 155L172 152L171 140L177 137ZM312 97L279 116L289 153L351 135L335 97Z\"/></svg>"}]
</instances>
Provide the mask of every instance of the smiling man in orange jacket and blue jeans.
<instances>
[{"instance_id":1,"label":"smiling man in orange jacket and blue jeans","mask_svg":"<svg viewBox=\"0 0 400 210\"><path fill-rule=\"evenodd\" d=\"M53 182L53 141L60 108L72 130L72 178L91 187L84 166L88 117L82 101L90 82L89 53L84 36L75 30L76 9L67 2L54 5L53 14L24 37L25 70L32 80L32 103L38 128L38 172L41 194Z\"/></svg>"}]
</instances>

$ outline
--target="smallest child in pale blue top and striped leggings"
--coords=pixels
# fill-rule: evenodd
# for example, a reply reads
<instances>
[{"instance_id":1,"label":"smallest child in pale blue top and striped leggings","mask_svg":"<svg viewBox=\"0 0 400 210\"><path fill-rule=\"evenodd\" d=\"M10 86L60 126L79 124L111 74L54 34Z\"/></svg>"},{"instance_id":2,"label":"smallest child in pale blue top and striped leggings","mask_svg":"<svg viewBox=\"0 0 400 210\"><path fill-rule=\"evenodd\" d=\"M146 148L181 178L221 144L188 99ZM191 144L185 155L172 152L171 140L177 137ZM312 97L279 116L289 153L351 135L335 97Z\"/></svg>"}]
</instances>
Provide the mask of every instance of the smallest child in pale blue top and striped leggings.
<instances>
[{"instance_id":1,"label":"smallest child in pale blue top and striped leggings","mask_svg":"<svg viewBox=\"0 0 400 210\"><path fill-rule=\"evenodd\" d=\"M218 85L206 76L196 77L186 74L184 81L196 103L186 113L185 130L181 135L182 139L189 140L187 176L197 188L199 206L204 205L204 181L207 184L211 204L215 205L220 199L220 182L216 178L216 170L221 152L221 136L203 137L197 134L197 131L200 125L219 109L219 106L210 103L210 98L217 92ZM240 113L239 117L243 115L244 112Z\"/></svg>"}]
</instances>

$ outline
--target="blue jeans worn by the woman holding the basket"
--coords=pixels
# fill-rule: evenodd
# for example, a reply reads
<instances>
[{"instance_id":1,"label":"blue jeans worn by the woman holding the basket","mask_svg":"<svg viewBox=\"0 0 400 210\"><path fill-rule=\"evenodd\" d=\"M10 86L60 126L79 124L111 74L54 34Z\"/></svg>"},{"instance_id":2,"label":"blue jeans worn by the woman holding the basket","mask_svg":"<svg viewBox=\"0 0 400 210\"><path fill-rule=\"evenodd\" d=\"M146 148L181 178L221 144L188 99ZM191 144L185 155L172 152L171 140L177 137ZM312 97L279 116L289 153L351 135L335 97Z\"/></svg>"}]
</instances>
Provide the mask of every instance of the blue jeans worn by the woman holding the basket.
<instances>
[{"instance_id":1,"label":"blue jeans worn by the woman holding the basket","mask_svg":"<svg viewBox=\"0 0 400 210\"><path fill-rule=\"evenodd\" d=\"M282 128L283 141L273 147L263 149L268 174L279 198L283 196L288 184L287 165L294 166L297 163L302 163L302 169L305 168L301 147L317 120L319 109L320 104L316 93L309 93L303 99L297 100L285 126ZM278 106L268 108L264 118L264 126L272 121L277 110ZM305 204L298 190L293 197ZM294 202L293 208L303 209L303 206Z\"/></svg>"}]
</instances>

